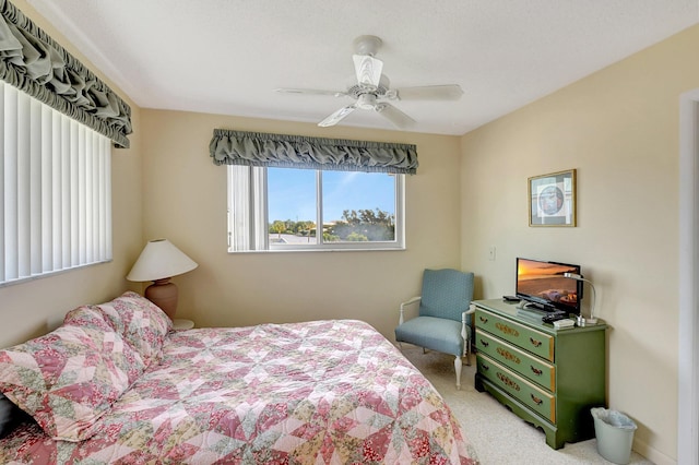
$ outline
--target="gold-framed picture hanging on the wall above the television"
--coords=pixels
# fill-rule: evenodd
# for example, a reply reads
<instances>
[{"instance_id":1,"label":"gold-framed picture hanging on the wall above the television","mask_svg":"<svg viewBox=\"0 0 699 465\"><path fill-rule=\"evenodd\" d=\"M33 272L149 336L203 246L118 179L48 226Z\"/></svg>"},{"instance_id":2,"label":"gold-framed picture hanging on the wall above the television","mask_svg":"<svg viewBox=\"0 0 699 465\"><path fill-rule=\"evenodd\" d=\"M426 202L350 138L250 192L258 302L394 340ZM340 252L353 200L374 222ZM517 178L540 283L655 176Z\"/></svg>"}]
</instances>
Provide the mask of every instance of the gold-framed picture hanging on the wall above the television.
<instances>
[{"instance_id":1,"label":"gold-framed picture hanging on the wall above the television","mask_svg":"<svg viewBox=\"0 0 699 465\"><path fill-rule=\"evenodd\" d=\"M577 226L574 169L531 177L528 187L531 227Z\"/></svg>"}]
</instances>

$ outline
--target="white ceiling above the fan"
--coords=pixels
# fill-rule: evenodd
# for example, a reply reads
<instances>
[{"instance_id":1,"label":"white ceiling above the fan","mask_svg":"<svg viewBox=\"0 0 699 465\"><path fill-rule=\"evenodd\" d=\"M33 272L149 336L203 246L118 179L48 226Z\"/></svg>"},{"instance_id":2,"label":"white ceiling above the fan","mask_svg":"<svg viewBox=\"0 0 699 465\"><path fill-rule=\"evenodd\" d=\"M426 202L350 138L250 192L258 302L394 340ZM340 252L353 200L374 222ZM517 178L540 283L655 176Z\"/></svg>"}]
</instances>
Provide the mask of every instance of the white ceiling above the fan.
<instances>
[{"instance_id":1,"label":"white ceiling above the fan","mask_svg":"<svg viewBox=\"0 0 699 465\"><path fill-rule=\"evenodd\" d=\"M416 132L463 134L699 22L697 0L27 0L143 108L319 122L347 97L355 37L383 40ZM393 129L357 110L341 124Z\"/></svg>"}]
</instances>

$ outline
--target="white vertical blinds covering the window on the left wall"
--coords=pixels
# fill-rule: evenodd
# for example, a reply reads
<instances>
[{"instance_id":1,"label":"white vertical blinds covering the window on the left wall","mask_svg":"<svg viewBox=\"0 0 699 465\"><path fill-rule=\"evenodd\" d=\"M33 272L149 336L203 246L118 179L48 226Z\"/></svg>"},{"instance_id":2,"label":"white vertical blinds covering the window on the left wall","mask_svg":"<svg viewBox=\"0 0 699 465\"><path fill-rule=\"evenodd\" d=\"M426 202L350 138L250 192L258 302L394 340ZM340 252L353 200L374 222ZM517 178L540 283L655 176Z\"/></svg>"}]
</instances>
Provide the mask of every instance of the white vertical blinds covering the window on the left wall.
<instances>
[{"instance_id":1,"label":"white vertical blinds covering the window on the left wall","mask_svg":"<svg viewBox=\"0 0 699 465\"><path fill-rule=\"evenodd\" d=\"M110 261L108 138L0 82L0 285Z\"/></svg>"}]
</instances>

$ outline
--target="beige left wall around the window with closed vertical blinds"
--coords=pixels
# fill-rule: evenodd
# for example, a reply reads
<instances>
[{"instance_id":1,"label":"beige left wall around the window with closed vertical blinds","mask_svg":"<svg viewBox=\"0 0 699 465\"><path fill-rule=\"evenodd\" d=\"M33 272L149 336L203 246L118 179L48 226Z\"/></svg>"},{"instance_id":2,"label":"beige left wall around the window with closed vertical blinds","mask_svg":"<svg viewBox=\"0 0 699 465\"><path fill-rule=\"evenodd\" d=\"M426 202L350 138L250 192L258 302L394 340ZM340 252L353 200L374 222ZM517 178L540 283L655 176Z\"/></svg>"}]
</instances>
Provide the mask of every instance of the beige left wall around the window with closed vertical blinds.
<instances>
[{"instance_id":1,"label":"beige left wall around the window with closed vertical blinds","mask_svg":"<svg viewBox=\"0 0 699 465\"><path fill-rule=\"evenodd\" d=\"M13 3L67 50L112 85L98 70L25 1ZM127 96L115 88L123 98ZM111 299L129 287L126 274L143 247L141 222L140 111L132 102L131 148L111 152L114 260L110 263L66 272L52 277L0 287L0 347L21 343L54 330L67 311Z\"/></svg>"}]
</instances>

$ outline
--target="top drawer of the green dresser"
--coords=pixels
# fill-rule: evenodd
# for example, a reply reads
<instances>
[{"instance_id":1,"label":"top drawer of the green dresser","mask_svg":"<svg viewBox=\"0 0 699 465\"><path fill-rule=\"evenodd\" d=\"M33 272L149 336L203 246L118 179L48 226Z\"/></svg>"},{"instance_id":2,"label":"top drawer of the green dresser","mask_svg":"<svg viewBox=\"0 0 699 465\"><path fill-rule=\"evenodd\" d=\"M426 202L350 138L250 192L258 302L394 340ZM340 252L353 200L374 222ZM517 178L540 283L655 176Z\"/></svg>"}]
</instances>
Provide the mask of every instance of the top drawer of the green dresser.
<instances>
[{"instance_id":1,"label":"top drawer of the green dresser","mask_svg":"<svg viewBox=\"0 0 699 465\"><path fill-rule=\"evenodd\" d=\"M554 361L554 336L476 308L476 331L482 330L534 355Z\"/></svg>"}]
</instances>

